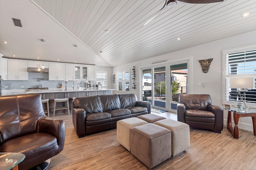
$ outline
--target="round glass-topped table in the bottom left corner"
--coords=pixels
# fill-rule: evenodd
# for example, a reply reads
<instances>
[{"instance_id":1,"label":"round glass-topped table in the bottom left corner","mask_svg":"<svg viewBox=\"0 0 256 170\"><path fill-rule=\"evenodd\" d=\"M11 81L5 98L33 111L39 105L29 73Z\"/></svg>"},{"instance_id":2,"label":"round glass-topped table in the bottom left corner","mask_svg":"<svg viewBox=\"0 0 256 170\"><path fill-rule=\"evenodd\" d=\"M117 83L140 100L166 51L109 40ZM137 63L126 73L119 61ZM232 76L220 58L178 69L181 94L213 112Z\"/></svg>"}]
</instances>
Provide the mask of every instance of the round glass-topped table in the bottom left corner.
<instances>
[{"instance_id":1,"label":"round glass-topped table in the bottom left corner","mask_svg":"<svg viewBox=\"0 0 256 170\"><path fill-rule=\"evenodd\" d=\"M0 170L18 170L18 164L25 159L22 153L0 152Z\"/></svg>"}]
</instances>

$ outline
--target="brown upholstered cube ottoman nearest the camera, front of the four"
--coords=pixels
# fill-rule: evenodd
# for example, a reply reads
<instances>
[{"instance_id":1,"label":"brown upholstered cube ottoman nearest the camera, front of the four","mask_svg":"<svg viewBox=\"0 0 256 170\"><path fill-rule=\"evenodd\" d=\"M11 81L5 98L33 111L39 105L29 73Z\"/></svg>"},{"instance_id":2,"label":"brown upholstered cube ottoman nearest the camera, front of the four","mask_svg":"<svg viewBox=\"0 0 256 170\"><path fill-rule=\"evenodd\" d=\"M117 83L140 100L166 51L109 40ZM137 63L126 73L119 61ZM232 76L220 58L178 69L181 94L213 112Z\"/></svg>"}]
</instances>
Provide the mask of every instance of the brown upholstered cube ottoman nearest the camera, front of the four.
<instances>
[{"instance_id":1,"label":"brown upholstered cube ottoman nearest the camera, front of the four","mask_svg":"<svg viewBox=\"0 0 256 170\"><path fill-rule=\"evenodd\" d=\"M131 153L148 168L172 156L171 132L148 123L131 129Z\"/></svg>"}]
</instances>

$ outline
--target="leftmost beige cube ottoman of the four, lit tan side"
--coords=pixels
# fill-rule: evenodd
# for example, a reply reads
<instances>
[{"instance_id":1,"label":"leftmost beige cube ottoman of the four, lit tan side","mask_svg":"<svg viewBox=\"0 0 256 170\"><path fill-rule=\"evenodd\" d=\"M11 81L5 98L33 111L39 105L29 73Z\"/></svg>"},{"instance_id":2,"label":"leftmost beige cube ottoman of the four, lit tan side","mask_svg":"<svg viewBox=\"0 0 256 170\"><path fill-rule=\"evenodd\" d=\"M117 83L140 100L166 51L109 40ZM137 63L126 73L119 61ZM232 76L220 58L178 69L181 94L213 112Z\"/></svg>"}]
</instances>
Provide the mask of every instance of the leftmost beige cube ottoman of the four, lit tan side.
<instances>
[{"instance_id":1,"label":"leftmost beige cube ottoman of the four, lit tan side","mask_svg":"<svg viewBox=\"0 0 256 170\"><path fill-rule=\"evenodd\" d=\"M144 125L148 122L138 119L136 117L131 117L128 119L122 119L116 122L116 138L117 141L125 147L127 150L131 151L130 143L130 131L133 127Z\"/></svg>"}]
</instances>

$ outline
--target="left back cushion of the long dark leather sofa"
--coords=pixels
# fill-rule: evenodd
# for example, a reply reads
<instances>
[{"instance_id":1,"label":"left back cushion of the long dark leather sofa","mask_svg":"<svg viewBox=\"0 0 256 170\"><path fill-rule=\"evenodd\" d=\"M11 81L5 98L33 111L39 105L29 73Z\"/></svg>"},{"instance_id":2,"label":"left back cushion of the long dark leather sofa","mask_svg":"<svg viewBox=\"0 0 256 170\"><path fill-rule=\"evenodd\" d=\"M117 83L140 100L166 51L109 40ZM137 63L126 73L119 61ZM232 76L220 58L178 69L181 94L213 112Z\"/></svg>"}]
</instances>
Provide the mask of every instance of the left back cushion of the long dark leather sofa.
<instances>
[{"instance_id":1,"label":"left back cushion of the long dark leather sofa","mask_svg":"<svg viewBox=\"0 0 256 170\"><path fill-rule=\"evenodd\" d=\"M86 113L103 112L100 96L75 98L74 107L83 108Z\"/></svg>"}]
</instances>

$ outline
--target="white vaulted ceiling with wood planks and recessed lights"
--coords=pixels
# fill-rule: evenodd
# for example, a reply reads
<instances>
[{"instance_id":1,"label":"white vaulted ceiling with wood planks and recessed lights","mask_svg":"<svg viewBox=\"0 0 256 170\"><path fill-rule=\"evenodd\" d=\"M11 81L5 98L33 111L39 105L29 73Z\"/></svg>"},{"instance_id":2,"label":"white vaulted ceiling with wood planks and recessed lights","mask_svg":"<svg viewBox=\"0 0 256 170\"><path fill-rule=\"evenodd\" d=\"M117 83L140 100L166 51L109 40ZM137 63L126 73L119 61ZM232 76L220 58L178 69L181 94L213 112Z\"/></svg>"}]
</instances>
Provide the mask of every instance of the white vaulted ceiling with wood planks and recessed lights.
<instances>
[{"instance_id":1,"label":"white vaulted ceiling with wood planks and recessed lights","mask_svg":"<svg viewBox=\"0 0 256 170\"><path fill-rule=\"evenodd\" d=\"M111 67L256 29L255 0L178 2L144 25L164 4L165 0L0 0L0 53ZM245 12L250 16L242 18ZM12 18L21 20L22 27L14 26Z\"/></svg>"}]
</instances>

